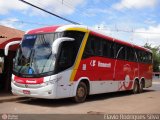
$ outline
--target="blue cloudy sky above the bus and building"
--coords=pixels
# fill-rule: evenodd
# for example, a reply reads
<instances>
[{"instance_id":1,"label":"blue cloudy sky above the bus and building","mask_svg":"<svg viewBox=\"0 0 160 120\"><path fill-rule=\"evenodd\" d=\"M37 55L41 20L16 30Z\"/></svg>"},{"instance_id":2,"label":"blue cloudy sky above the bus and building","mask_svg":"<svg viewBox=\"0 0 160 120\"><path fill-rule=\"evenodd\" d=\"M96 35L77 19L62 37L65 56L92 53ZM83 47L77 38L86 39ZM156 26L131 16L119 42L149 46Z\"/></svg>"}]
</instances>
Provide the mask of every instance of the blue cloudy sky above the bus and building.
<instances>
[{"instance_id":1,"label":"blue cloudy sky above the bus and building","mask_svg":"<svg viewBox=\"0 0 160 120\"><path fill-rule=\"evenodd\" d=\"M160 45L160 0L25 0L108 36ZM71 24L19 0L0 0L0 25L28 31Z\"/></svg>"}]
</instances>

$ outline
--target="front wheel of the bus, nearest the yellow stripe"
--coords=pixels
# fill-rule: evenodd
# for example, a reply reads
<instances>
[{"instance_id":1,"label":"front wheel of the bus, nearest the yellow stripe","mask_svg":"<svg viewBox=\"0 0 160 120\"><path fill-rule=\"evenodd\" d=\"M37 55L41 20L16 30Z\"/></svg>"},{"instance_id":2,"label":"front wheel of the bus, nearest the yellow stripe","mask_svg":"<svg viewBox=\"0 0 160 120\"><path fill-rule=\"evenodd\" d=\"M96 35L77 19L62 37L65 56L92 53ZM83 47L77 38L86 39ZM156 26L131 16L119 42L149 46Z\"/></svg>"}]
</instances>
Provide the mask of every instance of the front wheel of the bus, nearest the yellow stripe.
<instances>
[{"instance_id":1,"label":"front wheel of the bus, nearest the yellow stripe","mask_svg":"<svg viewBox=\"0 0 160 120\"><path fill-rule=\"evenodd\" d=\"M82 103L86 100L87 97L87 86L84 82L80 82L77 91L76 91L76 96L74 97L74 101L76 103Z\"/></svg>"}]
</instances>

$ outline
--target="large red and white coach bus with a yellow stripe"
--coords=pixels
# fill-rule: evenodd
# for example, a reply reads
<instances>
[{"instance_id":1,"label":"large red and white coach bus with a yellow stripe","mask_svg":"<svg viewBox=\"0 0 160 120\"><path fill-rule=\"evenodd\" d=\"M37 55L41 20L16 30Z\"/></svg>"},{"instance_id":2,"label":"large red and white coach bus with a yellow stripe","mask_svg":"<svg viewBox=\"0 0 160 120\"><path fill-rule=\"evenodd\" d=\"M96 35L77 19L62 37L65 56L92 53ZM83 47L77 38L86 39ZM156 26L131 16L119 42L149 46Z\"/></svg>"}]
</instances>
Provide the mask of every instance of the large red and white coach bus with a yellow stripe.
<instances>
[{"instance_id":1,"label":"large red and white coach bus with a yellow stripe","mask_svg":"<svg viewBox=\"0 0 160 120\"><path fill-rule=\"evenodd\" d=\"M13 60L12 93L81 103L88 95L152 86L152 52L82 25L24 35Z\"/></svg>"}]
</instances>

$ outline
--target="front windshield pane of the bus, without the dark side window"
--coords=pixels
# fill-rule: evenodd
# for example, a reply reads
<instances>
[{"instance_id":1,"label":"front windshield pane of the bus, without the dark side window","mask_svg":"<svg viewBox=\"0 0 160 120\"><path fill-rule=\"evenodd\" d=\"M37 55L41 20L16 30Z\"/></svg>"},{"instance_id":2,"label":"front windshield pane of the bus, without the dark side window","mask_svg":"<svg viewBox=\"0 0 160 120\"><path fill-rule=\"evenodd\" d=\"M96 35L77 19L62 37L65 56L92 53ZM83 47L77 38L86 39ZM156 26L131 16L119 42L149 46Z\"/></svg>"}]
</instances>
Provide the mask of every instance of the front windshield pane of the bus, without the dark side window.
<instances>
[{"instance_id":1,"label":"front windshield pane of the bus, without the dark side window","mask_svg":"<svg viewBox=\"0 0 160 120\"><path fill-rule=\"evenodd\" d=\"M62 33L25 35L17 51L13 71L29 75L52 72L56 60L52 43L61 36Z\"/></svg>"}]
</instances>

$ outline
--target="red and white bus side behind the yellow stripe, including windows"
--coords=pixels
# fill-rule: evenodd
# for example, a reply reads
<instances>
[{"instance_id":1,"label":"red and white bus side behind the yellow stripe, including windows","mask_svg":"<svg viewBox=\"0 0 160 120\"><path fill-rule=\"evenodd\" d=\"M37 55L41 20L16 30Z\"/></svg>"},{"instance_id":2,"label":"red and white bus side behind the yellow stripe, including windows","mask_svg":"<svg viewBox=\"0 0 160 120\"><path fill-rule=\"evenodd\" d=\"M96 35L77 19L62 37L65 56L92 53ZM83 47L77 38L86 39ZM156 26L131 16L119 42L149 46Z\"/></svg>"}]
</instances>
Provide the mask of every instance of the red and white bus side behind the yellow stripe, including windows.
<instances>
[{"instance_id":1,"label":"red and white bus side behind the yellow stripe, including windows","mask_svg":"<svg viewBox=\"0 0 160 120\"><path fill-rule=\"evenodd\" d=\"M152 85L152 52L91 31L75 75L80 79L89 83L89 94L140 93Z\"/></svg>"}]
</instances>

